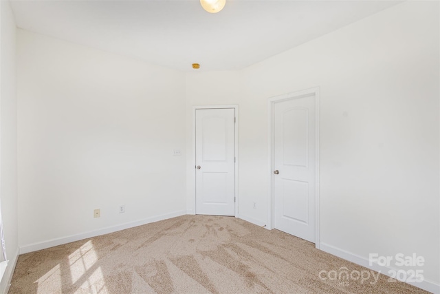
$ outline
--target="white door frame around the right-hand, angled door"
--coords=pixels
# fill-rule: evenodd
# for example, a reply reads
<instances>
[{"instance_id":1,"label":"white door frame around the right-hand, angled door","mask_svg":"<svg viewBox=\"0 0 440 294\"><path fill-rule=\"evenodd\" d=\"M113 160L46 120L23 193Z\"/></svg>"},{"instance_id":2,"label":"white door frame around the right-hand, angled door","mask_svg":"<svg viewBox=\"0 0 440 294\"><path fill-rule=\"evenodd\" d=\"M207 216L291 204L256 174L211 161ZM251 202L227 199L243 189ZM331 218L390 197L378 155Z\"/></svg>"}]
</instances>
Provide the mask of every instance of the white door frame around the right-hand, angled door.
<instances>
[{"instance_id":1,"label":"white door frame around the right-hand, angled door","mask_svg":"<svg viewBox=\"0 0 440 294\"><path fill-rule=\"evenodd\" d=\"M288 94L283 94L280 96L275 96L269 98L267 101L268 118L269 118L269 167L268 174L270 178L269 184L269 201L267 203L267 229L274 229L275 225L275 213L274 213L274 106L275 103L281 101L292 100L296 98L301 98L303 96L315 95L315 246L317 249L320 248L320 112L319 112L319 87L314 87L311 89L292 92Z\"/></svg>"}]
</instances>

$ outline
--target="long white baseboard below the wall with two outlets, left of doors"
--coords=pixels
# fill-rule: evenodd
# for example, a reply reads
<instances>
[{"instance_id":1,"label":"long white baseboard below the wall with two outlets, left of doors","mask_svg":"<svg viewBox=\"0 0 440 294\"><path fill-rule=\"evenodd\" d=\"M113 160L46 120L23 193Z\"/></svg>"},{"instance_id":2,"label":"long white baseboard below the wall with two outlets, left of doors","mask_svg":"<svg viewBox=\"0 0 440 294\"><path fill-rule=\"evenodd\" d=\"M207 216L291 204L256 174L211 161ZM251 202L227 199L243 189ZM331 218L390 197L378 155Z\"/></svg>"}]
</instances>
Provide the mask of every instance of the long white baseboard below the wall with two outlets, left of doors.
<instances>
[{"instance_id":1,"label":"long white baseboard below the wall with two outlets, left of doors","mask_svg":"<svg viewBox=\"0 0 440 294\"><path fill-rule=\"evenodd\" d=\"M70 242L75 242L75 241L79 241L79 240L83 240L83 239L87 239L87 238L92 238L92 237L96 237L98 235L105 235L108 233L113 233L113 232L121 231L124 229L130 229L133 227L142 226L143 224L149 224L151 222L158 222L159 220L166 220L168 218L175 218L177 216L183 216L185 214L186 214L186 211L184 211L184 210L175 211L172 213L163 214L162 216L153 216L151 218L146 218L144 220L137 220L135 222L126 222L125 224L118 224L117 226L106 227L106 228L99 229L96 231L89 231L89 232L80 233L77 235L69 235L69 236L66 236L63 238L56 238L56 239L47 240L44 242L28 244L28 245L24 245L24 246L20 247L20 254L30 253L33 251L39 251L41 249L47 249L47 248L50 248L53 246L58 246L58 245L67 244Z\"/></svg>"}]
</instances>

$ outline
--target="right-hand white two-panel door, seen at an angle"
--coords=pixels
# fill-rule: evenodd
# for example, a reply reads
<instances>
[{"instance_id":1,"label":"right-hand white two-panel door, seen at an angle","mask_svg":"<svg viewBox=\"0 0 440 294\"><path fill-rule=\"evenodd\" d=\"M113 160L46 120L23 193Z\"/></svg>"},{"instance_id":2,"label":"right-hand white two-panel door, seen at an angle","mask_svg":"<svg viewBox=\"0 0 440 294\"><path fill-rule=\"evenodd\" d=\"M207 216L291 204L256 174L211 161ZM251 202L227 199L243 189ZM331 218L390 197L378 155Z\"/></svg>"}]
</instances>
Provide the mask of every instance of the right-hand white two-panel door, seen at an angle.
<instances>
[{"instance_id":1,"label":"right-hand white two-panel door, seen at an angle","mask_svg":"<svg viewBox=\"0 0 440 294\"><path fill-rule=\"evenodd\" d=\"M315 242L315 95L274 105L274 227Z\"/></svg>"}]
</instances>

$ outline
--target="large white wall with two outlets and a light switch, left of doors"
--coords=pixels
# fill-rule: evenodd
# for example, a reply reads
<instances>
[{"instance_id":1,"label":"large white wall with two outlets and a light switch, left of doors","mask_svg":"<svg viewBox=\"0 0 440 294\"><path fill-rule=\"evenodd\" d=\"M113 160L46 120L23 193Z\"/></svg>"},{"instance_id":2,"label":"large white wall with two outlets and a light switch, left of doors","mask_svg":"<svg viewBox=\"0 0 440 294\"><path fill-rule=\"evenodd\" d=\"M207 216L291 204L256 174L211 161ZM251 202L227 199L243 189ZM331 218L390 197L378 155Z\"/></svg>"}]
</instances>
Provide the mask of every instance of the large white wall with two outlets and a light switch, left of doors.
<instances>
[{"instance_id":1,"label":"large white wall with two outlets and a light switch, left of doors","mask_svg":"<svg viewBox=\"0 0 440 294\"><path fill-rule=\"evenodd\" d=\"M17 73L22 253L185 213L183 74L23 30Z\"/></svg>"}]
</instances>

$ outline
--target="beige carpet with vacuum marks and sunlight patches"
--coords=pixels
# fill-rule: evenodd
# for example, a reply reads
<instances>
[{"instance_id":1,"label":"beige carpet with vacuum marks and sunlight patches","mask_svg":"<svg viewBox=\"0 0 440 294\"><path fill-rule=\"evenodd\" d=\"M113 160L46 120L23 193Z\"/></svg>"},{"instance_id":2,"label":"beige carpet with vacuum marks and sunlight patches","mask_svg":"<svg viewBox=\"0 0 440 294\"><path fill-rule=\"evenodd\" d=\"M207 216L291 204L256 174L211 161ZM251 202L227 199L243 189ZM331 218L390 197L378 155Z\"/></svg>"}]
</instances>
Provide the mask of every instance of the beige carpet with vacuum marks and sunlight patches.
<instances>
[{"instance_id":1,"label":"beige carpet with vacuum marks and sunlight patches","mask_svg":"<svg viewBox=\"0 0 440 294\"><path fill-rule=\"evenodd\" d=\"M373 275L281 231L181 216L21 255L9 293L427 293Z\"/></svg>"}]
</instances>

